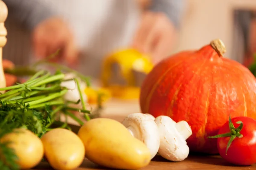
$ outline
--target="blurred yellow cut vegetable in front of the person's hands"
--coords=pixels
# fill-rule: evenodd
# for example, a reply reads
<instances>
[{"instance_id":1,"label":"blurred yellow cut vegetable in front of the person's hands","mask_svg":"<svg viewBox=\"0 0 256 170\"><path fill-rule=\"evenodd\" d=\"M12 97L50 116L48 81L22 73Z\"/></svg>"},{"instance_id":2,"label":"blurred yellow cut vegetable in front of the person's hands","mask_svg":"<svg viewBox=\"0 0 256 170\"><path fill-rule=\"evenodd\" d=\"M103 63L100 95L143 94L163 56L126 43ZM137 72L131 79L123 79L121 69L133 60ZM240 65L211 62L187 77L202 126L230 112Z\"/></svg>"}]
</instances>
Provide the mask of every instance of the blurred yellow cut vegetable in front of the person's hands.
<instances>
[{"instance_id":1,"label":"blurred yellow cut vegetable in front of the person's hands","mask_svg":"<svg viewBox=\"0 0 256 170\"><path fill-rule=\"evenodd\" d=\"M109 80L113 76L113 64L120 66L122 78L126 85L111 84ZM128 48L116 51L105 58L103 62L101 80L105 88L111 91L113 97L119 99L137 99L140 94L140 87L137 87L133 71L148 74L153 68L153 63L149 56L139 51Z\"/></svg>"}]
</instances>

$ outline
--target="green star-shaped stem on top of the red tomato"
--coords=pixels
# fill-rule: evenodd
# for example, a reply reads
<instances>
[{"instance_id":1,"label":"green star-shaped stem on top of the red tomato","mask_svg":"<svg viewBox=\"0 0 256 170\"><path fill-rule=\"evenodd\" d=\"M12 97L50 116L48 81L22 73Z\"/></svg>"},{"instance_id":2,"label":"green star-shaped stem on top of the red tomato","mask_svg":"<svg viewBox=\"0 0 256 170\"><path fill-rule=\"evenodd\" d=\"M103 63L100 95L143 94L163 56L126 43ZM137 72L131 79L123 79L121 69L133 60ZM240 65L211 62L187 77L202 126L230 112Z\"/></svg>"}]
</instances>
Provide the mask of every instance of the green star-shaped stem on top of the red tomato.
<instances>
[{"instance_id":1,"label":"green star-shaped stem on top of the red tomato","mask_svg":"<svg viewBox=\"0 0 256 170\"><path fill-rule=\"evenodd\" d=\"M233 122L231 121L231 116L229 116L228 119L228 125L230 128L230 132L229 133L223 133L223 134L218 134L215 136L208 136L207 138L222 138L222 137L230 137L228 143L227 143L227 148L226 148L226 155L227 155L227 150L230 148L231 143L233 142L233 140L238 137L238 138L242 138L243 135L240 133L242 128L244 127L243 122L241 121L237 121L236 124L239 124L239 127L235 128L235 126L233 125Z\"/></svg>"}]
</instances>

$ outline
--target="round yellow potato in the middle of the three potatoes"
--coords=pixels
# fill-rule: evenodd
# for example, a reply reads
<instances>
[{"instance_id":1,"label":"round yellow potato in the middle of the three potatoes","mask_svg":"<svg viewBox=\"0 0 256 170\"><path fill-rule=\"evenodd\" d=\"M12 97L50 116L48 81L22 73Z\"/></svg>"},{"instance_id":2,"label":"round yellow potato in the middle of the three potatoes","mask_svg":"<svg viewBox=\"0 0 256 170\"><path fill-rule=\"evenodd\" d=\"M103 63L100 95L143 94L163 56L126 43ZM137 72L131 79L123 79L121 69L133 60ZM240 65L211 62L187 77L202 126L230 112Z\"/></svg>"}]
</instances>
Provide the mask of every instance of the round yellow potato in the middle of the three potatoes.
<instances>
[{"instance_id":1,"label":"round yellow potato in the middle of the three potatoes","mask_svg":"<svg viewBox=\"0 0 256 170\"><path fill-rule=\"evenodd\" d=\"M84 160L85 150L81 139L70 130L56 128L41 138L45 157L55 170L73 170Z\"/></svg>"}]
</instances>

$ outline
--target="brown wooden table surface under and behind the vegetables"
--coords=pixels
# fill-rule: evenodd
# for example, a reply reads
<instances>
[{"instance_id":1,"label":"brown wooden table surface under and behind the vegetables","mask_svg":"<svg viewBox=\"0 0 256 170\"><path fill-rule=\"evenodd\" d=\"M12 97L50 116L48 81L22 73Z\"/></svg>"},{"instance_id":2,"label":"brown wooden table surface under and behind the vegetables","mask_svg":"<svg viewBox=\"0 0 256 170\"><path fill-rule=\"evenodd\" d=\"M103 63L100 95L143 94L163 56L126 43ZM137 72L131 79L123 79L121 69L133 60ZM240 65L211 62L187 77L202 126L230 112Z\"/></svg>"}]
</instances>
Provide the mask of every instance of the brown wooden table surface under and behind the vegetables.
<instances>
[{"instance_id":1,"label":"brown wooden table surface under and behind the vegetables","mask_svg":"<svg viewBox=\"0 0 256 170\"><path fill-rule=\"evenodd\" d=\"M137 101L119 101L112 100L106 104L106 108L103 111L101 117L107 117L122 121L125 116L130 113L140 112L140 107ZM73 120L69 123L76 124ZM240 167L228 164L220 156L209 156L209 155L195 155L189 154L189 157L184 161L171 162L167 161L160 156L156 156L152 159L151 163L142 168L142 170L256 170L256 164L252 166ZM47 162L43 162L35 167L33 170L52 170ZM108 168L100 167L84 159L84 162L76 170L108 170Z\"/></svg>"}]
</instances>

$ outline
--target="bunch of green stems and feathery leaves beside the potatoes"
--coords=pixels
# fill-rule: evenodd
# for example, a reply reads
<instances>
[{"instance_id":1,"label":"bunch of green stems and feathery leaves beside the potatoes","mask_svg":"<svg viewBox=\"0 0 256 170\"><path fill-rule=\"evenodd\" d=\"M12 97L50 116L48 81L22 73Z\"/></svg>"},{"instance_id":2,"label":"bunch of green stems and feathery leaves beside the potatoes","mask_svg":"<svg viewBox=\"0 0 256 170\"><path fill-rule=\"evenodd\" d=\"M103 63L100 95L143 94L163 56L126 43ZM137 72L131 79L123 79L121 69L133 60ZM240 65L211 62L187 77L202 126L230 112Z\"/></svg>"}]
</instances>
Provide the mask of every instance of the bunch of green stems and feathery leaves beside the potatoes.
<instances>
[{"instance_id":1,"label":"bunch of green stems and feathery leaves beside the potatoes","mask_svg":"<svg viewBox=\"0 0 256 170\"><path fill-rule=\"evenodd\" d=\"M15 128L26 128L39 137L51 130L53 124L70 129L67 119L65 122L58 121L61 115L66 118L69 116L83 125L81 118L76 117L72 111L78 111L84 119L90 120L91 111L85 107L76 78L73 80L76 82L81 100L72 102L64 99L69 89L62 87L61 82L70 81L64 79L64 73L56 71L55 74L51 74L49 71L33 69L30 69L29 73L34 75L26 82L0 88L0 91L6 91L0 94L0 139ZM88 79L86 82L88 86ZM0 142L0 170L18 170L17 156L8 144Z\"/></svg>"}]
</instances>

